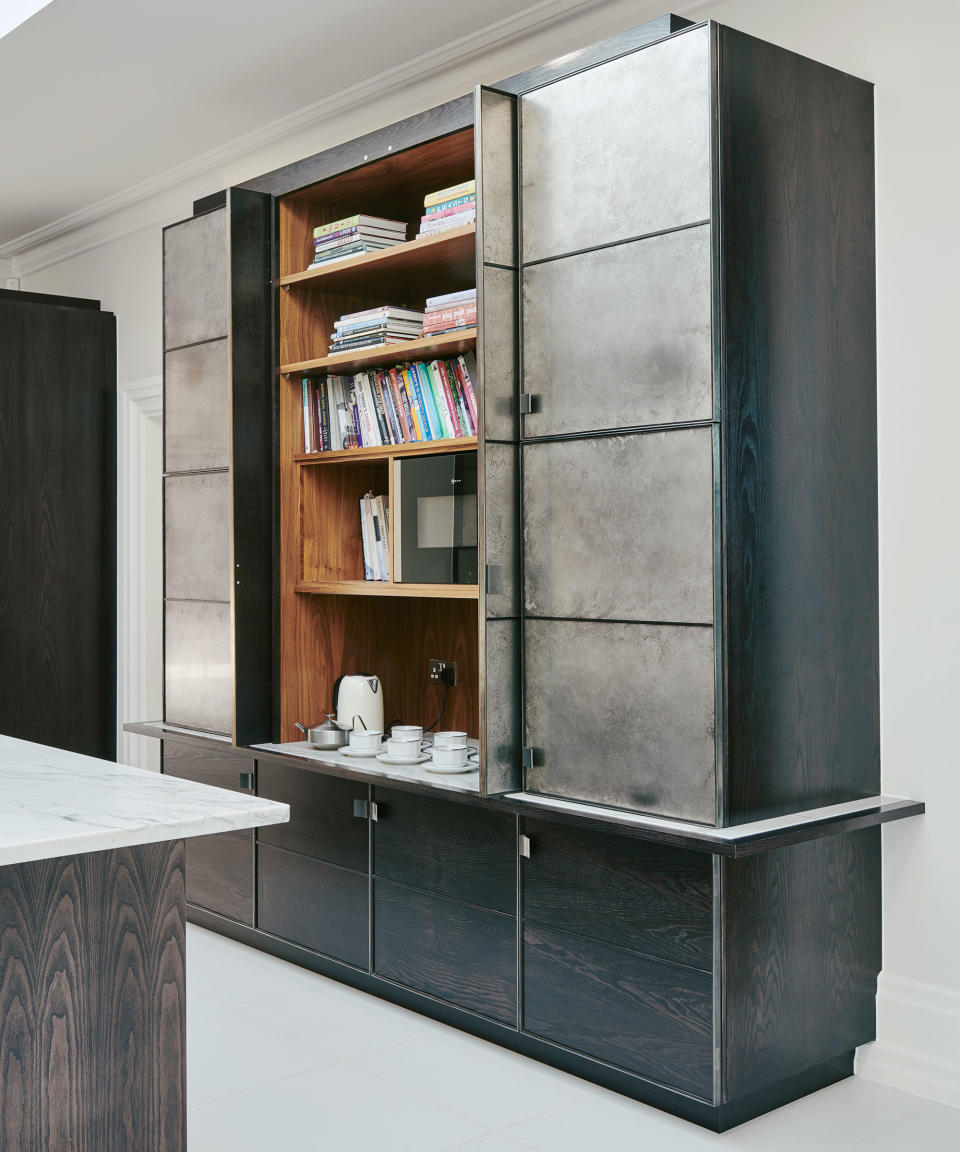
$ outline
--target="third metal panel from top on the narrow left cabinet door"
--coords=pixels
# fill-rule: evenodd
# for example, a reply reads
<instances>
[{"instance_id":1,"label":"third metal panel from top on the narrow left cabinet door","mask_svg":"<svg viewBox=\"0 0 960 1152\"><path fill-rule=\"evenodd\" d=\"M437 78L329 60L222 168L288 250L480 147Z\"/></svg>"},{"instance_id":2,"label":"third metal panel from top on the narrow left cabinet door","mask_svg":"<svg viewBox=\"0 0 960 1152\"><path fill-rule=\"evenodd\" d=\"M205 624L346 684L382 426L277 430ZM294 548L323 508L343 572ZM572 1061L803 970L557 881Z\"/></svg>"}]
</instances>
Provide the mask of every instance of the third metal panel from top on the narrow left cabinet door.
<instances>
[{"instance_id":1,"label":"third metal panel from top on the narrow left cabinet door","mask_svg":"<svg viewBox=\"0 0 960 1152\"><path fill-rule=\"evenodd\" d=\"M165 593L173 600L230 598L228 472L164 480Z\"/></svg>"}]
</instances>

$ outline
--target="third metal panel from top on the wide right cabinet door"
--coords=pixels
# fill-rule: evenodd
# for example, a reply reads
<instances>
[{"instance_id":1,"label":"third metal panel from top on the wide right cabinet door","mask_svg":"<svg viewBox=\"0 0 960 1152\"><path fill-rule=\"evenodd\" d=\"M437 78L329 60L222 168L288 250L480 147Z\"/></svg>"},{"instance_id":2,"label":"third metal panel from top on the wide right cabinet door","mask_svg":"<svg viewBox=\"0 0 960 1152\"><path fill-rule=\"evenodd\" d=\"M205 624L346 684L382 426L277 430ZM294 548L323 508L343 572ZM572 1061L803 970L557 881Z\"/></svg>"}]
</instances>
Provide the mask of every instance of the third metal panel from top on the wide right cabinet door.
<instances>
[{"instance_id":1,"label":"third metal panel from top on the wide right cabinet door","mask_svg":"<svg viewBox=\"0 0 960 1152\"><path fill-rule=\"evenodd\" d=\"M523 447L527 612L713 622L710 427Z\"/></svg>"}]
</instances>

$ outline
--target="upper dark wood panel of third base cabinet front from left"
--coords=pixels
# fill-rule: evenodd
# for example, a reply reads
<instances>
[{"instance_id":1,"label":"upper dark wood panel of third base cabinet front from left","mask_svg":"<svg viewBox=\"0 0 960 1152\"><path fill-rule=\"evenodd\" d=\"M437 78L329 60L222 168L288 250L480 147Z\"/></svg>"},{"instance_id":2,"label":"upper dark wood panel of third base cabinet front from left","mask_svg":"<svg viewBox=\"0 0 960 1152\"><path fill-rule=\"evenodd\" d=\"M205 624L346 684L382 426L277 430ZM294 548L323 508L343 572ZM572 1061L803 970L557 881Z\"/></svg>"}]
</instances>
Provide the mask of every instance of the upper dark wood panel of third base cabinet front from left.
<instances>
[{"instance_id":1,"label":"upper dark wood panel of third base cabinet front from left","mask_svg":"<svg viewBox=\"0 0 960 1152\"><path fill-rule=\"evenodd\" d=\"M376 789L373 872L516 915L516 825L473 804Z\"/></svg>"}]
</instances>

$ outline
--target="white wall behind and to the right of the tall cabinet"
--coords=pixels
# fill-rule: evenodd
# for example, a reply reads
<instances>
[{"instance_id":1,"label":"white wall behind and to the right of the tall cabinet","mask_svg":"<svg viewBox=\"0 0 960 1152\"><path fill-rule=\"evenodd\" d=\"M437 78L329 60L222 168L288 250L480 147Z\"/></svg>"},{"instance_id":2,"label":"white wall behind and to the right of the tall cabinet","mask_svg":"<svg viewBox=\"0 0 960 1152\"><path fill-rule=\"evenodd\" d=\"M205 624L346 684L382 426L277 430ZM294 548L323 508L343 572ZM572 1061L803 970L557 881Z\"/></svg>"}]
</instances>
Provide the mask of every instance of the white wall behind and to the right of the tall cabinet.
<instances>
[{"instance_id":1,"label":"white wall behind and to the right of the tall cabinet","mask_svg":"<svg viewBox=\"0 0 960 1152\"><path fill-rule=\"evenodd\" d=\"M859 1071L960 1105L960 811L958 515L960 289L953 206L960 200L960 83L954 0L721 0L680 3L877 85L880 642L886 791L921 797L928 814L884 829L884 971L879 1036ZM149 206L104 221L82 243L25 253L23 287L103 298L120 324L120 379L160 371L158 221L194 196L251 177L361 131L657 15L649 3L597 3L522 40L424 76L334 121L237 157ZM129 232L137 212L149 226ZM105 241L111 233L126 235ZM61 242L61 248L65 242Z\"/></svg>"}]
</instances>

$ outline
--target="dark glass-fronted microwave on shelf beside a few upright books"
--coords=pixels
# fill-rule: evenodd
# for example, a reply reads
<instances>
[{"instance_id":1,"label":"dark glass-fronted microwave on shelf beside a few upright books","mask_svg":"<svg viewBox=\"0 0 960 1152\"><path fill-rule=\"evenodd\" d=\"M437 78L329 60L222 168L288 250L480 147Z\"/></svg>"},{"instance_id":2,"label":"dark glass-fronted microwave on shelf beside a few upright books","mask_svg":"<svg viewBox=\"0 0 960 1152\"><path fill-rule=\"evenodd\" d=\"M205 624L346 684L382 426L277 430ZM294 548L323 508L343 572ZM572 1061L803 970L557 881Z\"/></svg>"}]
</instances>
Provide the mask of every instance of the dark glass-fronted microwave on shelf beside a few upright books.
<instances>
[{"instance_id":1,"label":"dark glass-fronted microwave on shelf beside a few upright books","mask_svg":"<svg viewBox=\"0 0 960 1152\"><path fill-rule=\"evenodd\" d=\"M396 583L477 583L476 452L395 460L393 508Z\"/></svg>"}]
</instances>

